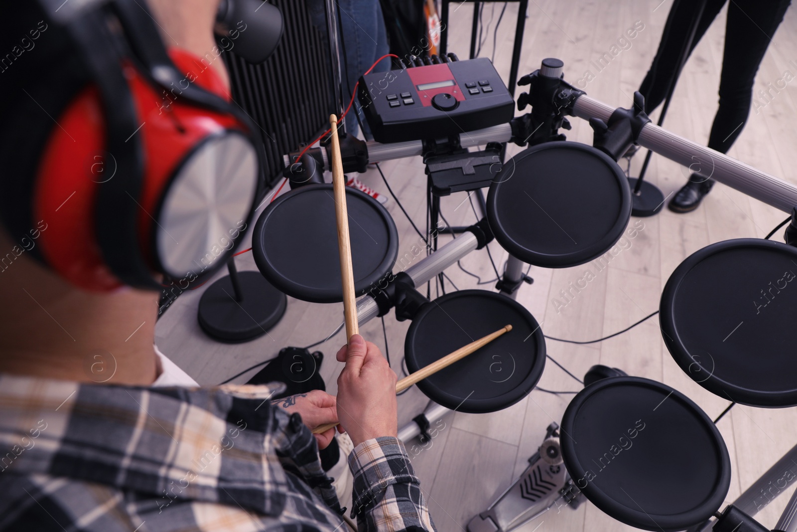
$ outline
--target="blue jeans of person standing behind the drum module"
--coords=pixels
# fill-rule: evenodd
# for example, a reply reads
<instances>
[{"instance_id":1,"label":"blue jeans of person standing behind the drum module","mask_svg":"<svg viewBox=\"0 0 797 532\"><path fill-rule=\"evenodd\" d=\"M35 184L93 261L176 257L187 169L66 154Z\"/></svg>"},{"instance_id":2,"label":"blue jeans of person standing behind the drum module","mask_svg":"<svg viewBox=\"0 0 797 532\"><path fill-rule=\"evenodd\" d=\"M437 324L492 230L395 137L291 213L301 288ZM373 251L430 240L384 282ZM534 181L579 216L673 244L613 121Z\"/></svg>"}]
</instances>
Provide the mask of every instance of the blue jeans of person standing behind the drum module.
<instances>
[{"instance_id":1,"label":"blue jeans of person standing behind the drum module","mask_svg":"<svg viewBox=\"0 0 797 532\"><path fill-rule=\"evenodd\" d=\"M324 0L306 0L312 23L321 33L327 35L327 21L324 14ZM340 72L344 92L344 105L348 105L355 83L374 61L390 52L387 45L387 30L379 0L336 0L338 32L340 33ZM336 15L338 15L336 13ZM345 50L345 53L344 53ZM328 57L327 57L328 61ZM371 72L387 72L391 68L389 58L379 61ZM345 110L345 107L344 107ZM346 131L357 134L359 112L363 120L363 134L371 136L365 116L359 109L355 98L351 111L346 116Z\"/></svg>"}]
</instances>

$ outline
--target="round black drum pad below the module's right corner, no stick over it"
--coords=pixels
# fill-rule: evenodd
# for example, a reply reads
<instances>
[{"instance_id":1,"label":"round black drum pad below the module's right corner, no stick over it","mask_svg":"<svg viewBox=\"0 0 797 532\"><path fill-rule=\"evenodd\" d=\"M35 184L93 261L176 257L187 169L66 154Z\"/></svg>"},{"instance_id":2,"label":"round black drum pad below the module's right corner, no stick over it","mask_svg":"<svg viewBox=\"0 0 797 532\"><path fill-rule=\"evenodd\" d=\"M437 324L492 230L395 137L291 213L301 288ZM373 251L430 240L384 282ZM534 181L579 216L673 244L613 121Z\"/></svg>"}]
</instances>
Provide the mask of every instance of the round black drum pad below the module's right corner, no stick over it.
<instances>
[{"instance_id":1,"label":"round black drum pad below the module's right corner, no stick over it","mask_svg":"<svg viewBox=\"0 0 797 532\"><path fill-rule=\"evenodd\" d=\"M510 254L565 268L606 253L631 215L628 179L603 152L548 142L508 160L490 185L490 227Z\"/></svg>"}]
</instances>

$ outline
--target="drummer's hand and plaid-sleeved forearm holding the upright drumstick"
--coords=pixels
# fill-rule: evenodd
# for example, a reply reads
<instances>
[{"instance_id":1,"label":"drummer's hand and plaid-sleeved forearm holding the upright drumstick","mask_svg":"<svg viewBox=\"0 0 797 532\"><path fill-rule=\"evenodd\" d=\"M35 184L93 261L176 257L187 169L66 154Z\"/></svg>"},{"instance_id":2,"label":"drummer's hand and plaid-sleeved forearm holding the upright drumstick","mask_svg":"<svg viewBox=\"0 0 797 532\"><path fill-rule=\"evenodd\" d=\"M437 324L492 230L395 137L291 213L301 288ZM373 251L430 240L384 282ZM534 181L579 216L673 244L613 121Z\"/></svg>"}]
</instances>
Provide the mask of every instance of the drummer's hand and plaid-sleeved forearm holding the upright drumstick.
<instances>
[{"instance_id":1,"label":"drummer's hand and plaid-sleeved forearm holding the upright drumstick","mask_svg":"<svg viewBox=\"0 0 797 532\"><path fill-rule=\"evenodd\" d=\"M351 516L359 532L436 530L398 432L396 375L379 348L359 334L340 349L337 414L354 451Z\"/></svg>"}]
</instances>

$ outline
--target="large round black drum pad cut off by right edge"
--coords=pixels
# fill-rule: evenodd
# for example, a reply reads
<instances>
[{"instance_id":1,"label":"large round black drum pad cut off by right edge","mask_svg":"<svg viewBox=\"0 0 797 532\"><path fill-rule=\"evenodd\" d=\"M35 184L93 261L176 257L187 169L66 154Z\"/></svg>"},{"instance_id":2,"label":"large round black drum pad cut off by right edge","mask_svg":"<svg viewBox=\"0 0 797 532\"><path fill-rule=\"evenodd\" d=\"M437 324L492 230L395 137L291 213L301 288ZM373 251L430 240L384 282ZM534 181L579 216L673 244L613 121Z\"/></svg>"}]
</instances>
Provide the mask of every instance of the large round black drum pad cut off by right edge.
<instances>
[{"instance_id":1,"label":"large round black drum pad cut off by right edge","mask_svg":"<svg viewBox=\"0 0 797 532\"><path fill-rule=\"evenodd\" d=\"M704 247L662 292L662 337L703 388L757 407L797 405L797 250L760 238Z\"/></svg>"}]
</instances>

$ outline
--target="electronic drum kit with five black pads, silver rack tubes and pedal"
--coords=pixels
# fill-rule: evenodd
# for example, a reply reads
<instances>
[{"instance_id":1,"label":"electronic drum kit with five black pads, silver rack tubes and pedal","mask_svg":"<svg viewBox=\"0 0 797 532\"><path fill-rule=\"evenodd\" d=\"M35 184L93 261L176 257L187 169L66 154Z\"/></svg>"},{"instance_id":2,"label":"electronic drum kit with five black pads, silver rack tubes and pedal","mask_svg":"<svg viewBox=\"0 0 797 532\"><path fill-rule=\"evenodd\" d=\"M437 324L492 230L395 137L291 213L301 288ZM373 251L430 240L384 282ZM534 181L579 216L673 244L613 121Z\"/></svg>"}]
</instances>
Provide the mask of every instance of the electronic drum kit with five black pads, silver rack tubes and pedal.
<instances>
[{"instance_id":1,"label":"electronic drum kit with five black pads, silver rack tubes and pedal","mask_svg":"<svg viewBox=\"0 0 797 532\"><path fill-rule=\"evenodd\" d=\"M617 123L614 109L569 89L562 81L556 93L570 98L559 105L561 112L603 120L610 129ZM511 132L507 125L490 128L490 134L506 141ZM710 156L720 182L783 211L797 205L797 187L654 124L644 124L632 140L681 164L696 154ZM389 145L369 144L381 149L379 160L390 158ZM406 154L407 143L399 151ZM429 301L414 287L493 236L514 258L535 266L591 261L622 236L632 203L628 180L607 150L570 141L536 144L506 161L490 184L486 221L395 273L398 238L391 216L351 187L346 201L359 323L391 307L400 319L411 319L405 341L410 372L512 325L510 333L418 382L435 404L478 413L507 408L536 386L545 365L540 324L505 294L459 290ZM332 185L296 187L270 203L257 221L253 252L261 274L285 294L343 301ZM760 408L797 405L795 274L797 249L770 240L717 242L690 255L662 292L660 325L669 353L693 380L726 400ZM503 373L491 371L497 361ZM718 513L731 467L705 412L668 385L619 370L601 376L587 380L560 426L548 428L524 475L473 518L469 532L510 530L552 507L575 506L582 496L646 530L687 530L713 515L722 522L733 514ZM749 505L742 510L755 513ZM745 523L740 530L752 530Z\"/></svg>"}]
</instances>

